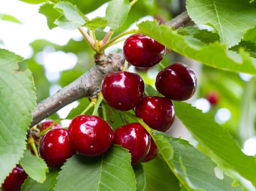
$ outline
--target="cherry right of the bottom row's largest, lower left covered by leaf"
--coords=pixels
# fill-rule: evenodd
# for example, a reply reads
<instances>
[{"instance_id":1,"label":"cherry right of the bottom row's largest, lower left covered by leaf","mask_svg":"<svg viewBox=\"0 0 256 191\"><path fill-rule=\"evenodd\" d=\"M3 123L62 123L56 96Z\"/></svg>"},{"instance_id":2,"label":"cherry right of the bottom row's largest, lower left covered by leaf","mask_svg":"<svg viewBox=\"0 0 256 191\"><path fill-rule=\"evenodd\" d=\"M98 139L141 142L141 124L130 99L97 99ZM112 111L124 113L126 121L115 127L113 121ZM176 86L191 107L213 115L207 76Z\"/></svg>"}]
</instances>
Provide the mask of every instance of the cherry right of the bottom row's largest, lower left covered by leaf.
<instances>
[{"instance_id":1,"label":"cherry right of the bottom row's largest, lower left covered by leaf","mask_svg":"<svg viewBox=\"0 0 256 191\"><path fill-rule=\"evenodd\" d=\"M132 155L132 165L146 157L150 148L150 135L139 123L129 123L114 131L114 144L127 148Z\"/></svg>"}]
</instances>

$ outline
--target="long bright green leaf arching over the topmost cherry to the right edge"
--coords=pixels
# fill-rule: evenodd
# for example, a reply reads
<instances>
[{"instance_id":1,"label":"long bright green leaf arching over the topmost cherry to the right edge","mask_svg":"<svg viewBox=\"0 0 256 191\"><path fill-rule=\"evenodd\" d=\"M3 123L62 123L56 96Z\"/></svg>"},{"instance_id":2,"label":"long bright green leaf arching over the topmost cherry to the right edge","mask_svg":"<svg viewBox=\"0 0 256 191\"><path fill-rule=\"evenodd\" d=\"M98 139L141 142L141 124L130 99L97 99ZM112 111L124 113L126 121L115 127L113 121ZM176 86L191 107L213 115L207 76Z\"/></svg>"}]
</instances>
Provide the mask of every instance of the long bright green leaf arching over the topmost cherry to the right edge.
<instances>
[{"instance_id":1,"label":"long bright green leaf arching over the topmost cherry to the right edge","mask_svg":"<svg viewBox=\"0 0 256 191\"><path fill-rule=\"evenodd\" d=\"M240 54L227 51L226 45L215 43L203 45L193 37L178 34L173 28L161 25L157 21L145 21L139 25L139 32L148 35L183 56L192 58L214 68L256 74L256 59L248 52L240 50ZM196 43L195 43L196 42Z\"/></svg>"}]
</instances>

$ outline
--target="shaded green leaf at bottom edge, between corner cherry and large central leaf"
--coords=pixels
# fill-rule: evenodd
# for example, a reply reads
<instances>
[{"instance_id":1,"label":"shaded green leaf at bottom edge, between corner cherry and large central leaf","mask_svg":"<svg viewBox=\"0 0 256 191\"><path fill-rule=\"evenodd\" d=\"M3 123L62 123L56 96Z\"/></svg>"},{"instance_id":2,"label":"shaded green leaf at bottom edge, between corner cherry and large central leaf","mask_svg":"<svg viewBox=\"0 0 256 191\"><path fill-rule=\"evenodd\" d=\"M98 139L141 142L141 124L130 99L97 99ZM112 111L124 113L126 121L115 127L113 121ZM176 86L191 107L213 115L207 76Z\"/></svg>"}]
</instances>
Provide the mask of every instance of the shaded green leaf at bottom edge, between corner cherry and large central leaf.
<instances>
[{"instance_id":1,"label":"shaded green leaf at bottom edge, between corner cherry and large central leaf","mask_svg":"<svg viewBox=\"0 0 256 191\"><path fill-rule=\"evenodd\" d=\"M27 178L22 184L21 191L53 191L56 178L59 175L59 169L50 169L43 183L36 182L32 178Z\"/></svg>"}]
</instances>

